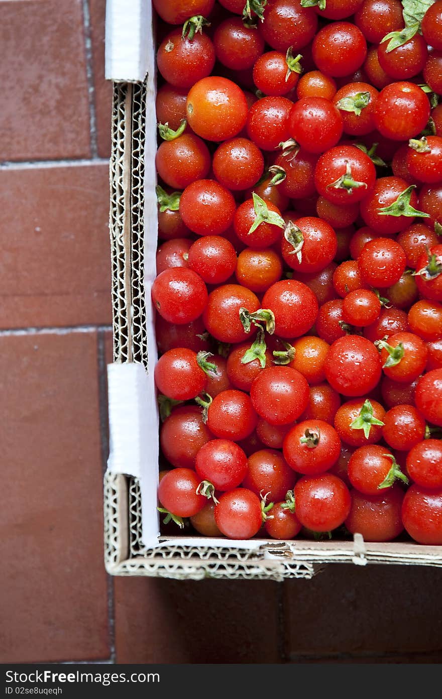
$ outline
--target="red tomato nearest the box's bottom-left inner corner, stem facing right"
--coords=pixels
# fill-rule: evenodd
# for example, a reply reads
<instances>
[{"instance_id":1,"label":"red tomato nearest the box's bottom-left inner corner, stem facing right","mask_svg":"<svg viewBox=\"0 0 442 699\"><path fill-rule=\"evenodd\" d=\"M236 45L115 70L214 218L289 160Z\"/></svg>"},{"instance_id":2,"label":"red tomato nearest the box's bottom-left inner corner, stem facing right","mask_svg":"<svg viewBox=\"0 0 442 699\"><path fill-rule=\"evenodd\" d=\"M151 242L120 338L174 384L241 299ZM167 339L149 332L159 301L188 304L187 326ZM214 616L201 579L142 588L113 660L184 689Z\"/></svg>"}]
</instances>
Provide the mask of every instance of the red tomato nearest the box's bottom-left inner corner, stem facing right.
<instances>
[{"instance_id":1,"label":"red tomato nearest the box's bottom-left inner corner, stem facing right","mask_svg":"<svg viewBox=\"0 0 442 699\"><path fill-rule=\"evenodd\" d=\"M191 468L174 468L159 483L158 499L162 506L177 517L192 517L206 505L204 495L197 493L199 480Z\"/></svg>"}]
</instances>

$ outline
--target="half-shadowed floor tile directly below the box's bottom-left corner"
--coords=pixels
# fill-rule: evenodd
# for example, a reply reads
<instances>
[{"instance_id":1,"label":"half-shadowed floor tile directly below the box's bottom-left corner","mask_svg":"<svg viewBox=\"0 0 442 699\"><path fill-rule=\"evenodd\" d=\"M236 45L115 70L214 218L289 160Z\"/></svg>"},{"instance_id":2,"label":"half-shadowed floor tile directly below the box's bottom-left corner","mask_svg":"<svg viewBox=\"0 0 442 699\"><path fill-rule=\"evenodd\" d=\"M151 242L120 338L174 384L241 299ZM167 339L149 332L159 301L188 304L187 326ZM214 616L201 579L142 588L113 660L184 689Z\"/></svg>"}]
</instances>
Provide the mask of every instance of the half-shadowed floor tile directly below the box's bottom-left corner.
<instances>
[{"instance_id":1,"label":"half-shadowed floor tile directly below the box's bottom-left corner","mask_svg":"<svg viewBox=\"0 0 442 699\"><path fill-rule=\"evenodd\" d=\"M115 577L117 663L278 663L276 582Z\"/></svg>"}]
</instances>

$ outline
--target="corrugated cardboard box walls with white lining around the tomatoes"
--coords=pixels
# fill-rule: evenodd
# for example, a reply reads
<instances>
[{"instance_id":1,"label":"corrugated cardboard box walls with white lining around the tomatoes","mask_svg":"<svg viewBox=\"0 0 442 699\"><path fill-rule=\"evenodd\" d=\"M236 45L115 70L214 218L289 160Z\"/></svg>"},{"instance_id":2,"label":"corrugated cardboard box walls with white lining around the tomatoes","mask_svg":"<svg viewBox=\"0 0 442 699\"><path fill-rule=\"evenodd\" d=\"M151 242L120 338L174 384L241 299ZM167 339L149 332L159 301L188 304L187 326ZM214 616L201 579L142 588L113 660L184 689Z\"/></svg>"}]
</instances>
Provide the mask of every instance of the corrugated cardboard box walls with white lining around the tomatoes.
<instances>
[{"instance_id":1,"label":"corrugated cardboard box walls with white lining around the tomatoes","mask_svg":"<svg viewBox=\"0 0 442 699\"><path fill-rule=\"evenodd\" d=\"M153 382L157 350L150 301L157 247L151 4L110 0L107 8L106 75L114 82L110 159L114 362L108 366L106 570L110 575L282 580L311 578L327 563L442 566L442 547L367 543L358 534L353 541L318 542L159 535L159 419ZM125 17L124 35L118 31L119 13ZM113 38L110 43L108 36ZM139 46L150 37L148 50L143 45L130 65L120 59L128 36L136 37Z\"/></svg>"}]
</instances>

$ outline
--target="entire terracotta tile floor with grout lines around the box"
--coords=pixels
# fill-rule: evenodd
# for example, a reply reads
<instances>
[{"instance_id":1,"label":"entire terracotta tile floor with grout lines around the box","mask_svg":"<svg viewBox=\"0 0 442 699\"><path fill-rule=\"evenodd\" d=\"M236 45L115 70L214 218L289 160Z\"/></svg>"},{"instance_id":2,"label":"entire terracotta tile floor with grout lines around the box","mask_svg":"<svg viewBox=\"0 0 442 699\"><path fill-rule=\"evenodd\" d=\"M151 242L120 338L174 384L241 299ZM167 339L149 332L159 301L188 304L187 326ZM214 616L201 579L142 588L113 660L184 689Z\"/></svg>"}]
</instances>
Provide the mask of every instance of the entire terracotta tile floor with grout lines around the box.
<instances>
[{"instance_id":1,"label":"entire terracotta tile floor with grout lines around the box","mask_svg":"<svg viewBox=\"0 0 442 699\"><path fill-rule=\"evenodd\" d=\"M441 662L437 568L106 575L104 10L0 0L0 663Z\"/></svg>"}]
</instances>

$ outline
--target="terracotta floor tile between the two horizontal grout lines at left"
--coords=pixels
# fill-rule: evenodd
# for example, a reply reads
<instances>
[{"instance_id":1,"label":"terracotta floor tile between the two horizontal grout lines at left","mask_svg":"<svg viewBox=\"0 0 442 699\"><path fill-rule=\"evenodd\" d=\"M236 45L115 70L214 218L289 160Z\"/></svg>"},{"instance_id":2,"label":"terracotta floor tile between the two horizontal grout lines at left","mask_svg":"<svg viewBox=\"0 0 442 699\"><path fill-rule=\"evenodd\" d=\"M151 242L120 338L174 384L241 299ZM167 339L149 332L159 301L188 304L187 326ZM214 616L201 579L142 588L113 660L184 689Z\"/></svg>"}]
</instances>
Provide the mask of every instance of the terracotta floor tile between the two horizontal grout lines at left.
<instances>
[{"instance_id":1,"label":"terracotta floor tile between the two horizontal grout lines at left","mask_svg":"<svg viewBox=\"0 0 442 699\"><path fill-rule=\"evenodd\" d=\"M0 210L0 327L110 323L108 166L0 170Z\"/></svg>"}]
</instances>

